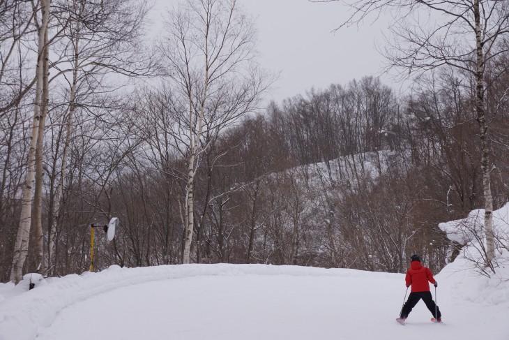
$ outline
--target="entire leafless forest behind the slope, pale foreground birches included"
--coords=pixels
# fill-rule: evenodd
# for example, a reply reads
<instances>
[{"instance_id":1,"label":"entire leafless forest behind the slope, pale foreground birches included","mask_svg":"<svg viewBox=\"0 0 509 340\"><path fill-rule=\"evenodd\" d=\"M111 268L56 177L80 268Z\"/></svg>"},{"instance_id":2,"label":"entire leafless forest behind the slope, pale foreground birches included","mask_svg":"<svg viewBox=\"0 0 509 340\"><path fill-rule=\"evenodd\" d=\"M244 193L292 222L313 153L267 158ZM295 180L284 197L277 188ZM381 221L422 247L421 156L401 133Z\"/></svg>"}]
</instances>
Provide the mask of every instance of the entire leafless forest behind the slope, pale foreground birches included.
<instances>
[{"instance_id":1,"label":"entire leafless forest behind the slope, pale foreground birches included","mask_svg":"<svg viewBox=\"0 0 509 340\"><path fill-rule=\"evenodd\" d=\"M436 271L461 246L438 224L485 207L488 170L492 209L508 202L507 40L483 64L483 103L478 73L446 63L403 94L366 76L266 105L275 77L236 1L183 1L153 46L148 10L0 0L1 282L86 271L90 225L113 216L96 270L403 272L419 253Z\"/></svg>"}]
</instances>

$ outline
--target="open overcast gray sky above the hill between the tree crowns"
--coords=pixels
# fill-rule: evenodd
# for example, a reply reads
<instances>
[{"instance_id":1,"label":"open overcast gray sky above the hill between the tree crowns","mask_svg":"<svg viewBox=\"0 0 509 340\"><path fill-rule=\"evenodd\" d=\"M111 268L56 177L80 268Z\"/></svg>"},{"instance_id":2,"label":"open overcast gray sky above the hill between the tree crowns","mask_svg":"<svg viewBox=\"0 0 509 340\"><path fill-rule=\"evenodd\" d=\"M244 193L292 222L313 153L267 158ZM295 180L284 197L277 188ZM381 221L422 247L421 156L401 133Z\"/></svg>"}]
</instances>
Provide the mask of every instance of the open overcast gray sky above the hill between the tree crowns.
<instances>
[{"instance_id":1,"label":"open overcast gray sky above the hill between the tree crowns","mask_svg":"<svg viewBox=\"0 0 509 340\"><path fill-rule=\"evenodd\" d=\"M381 29L387 25L383 20L332 33L348 15L347 7L340 2L239 1L256 20L261 66L280 72L267 99L281 102L305 94L312 87L324 89L332 83L346 84L381 71L383 57L374 46L375 40L383 41ZM157 0L151 17L157 20L165 7L176 2Z\"/></svg>"}]
</instances>

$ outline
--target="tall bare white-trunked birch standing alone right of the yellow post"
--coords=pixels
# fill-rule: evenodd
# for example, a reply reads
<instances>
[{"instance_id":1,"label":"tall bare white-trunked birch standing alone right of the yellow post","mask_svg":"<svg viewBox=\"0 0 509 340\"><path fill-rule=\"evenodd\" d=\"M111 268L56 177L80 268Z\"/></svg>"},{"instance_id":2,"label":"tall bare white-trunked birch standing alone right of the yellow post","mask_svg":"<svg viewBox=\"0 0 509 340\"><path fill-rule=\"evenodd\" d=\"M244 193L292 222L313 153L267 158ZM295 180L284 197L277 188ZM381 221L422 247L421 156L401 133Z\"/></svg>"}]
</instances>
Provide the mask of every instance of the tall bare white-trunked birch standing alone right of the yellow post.
<instances>
[{"instance_id":1,"label":"tall bare white-trunked birch standing alone right of the yellow post","mask_svg":"<svg viewBox=\"0 0 509 340\"><path fill-rule=\"evenodd\" d=\"M169 12L161 44L169 82L179 94L176 146L187 161L183 263L195 226L195 172L204 133L220 131L255 108L268 81L252 63L255 29L236 0L186 0Z\"/></svg>"}]
</instances>

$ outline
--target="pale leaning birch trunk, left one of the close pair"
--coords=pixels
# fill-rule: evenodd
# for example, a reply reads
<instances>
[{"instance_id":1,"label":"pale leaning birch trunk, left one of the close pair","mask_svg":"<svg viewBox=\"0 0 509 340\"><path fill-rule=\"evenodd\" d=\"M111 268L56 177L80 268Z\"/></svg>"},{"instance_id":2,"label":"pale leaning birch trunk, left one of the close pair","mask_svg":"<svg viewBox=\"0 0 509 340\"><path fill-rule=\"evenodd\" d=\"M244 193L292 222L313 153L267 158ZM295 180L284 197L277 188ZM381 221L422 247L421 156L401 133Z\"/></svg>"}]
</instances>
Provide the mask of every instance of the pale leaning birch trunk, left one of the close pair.
<instances>
[{"instance_id":1,"label":"pale leaning birch trunk, left one of the close pair","mask_svg":"<svg viewBox=\"0 0 509 340\"><path fill-rule=\"evenodd\" d=\"M23 278L23 266L29 250L29 236L31 226L31 209L33 200L33 184L36 177L36 147L39 133L41 97L43 87L43 59L45 47L45 34L50 19L50 0L41 0L43 11L43 22L38 32L38 59L36 68L36 100L33 106L33 124L30 137L30 148L26 171L26 180L22 191L22 211L20 226L17 230L16 242L14 245L13 267L10 271L10 281L18 283Z\"/></svg>"}]
</instances>

